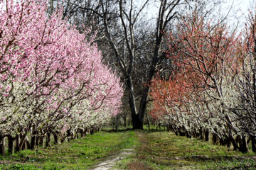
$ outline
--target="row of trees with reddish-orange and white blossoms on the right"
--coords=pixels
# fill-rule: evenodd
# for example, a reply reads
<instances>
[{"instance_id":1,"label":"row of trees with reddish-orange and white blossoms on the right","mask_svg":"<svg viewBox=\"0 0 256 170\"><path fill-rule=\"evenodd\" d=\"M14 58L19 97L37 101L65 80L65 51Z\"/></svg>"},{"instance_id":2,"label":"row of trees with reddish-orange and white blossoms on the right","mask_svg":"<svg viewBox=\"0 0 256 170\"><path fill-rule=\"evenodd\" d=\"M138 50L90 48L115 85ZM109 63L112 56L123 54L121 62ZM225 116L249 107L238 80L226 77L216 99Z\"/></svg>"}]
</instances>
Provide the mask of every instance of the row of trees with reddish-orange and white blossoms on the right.
<instances>
[{"instance_id":1,"label":"row of trees with reddish-orange and white blossoms on the right","mask_svg":"<svg viewBox=\"0 0 256 170\"><path fill-rule=\"evenodd\" d=\"M171 76L154 79L151 115L178 135L256 152L256 18L237 33L196 13L168 35Z\"/></svg>"}]
</instances>

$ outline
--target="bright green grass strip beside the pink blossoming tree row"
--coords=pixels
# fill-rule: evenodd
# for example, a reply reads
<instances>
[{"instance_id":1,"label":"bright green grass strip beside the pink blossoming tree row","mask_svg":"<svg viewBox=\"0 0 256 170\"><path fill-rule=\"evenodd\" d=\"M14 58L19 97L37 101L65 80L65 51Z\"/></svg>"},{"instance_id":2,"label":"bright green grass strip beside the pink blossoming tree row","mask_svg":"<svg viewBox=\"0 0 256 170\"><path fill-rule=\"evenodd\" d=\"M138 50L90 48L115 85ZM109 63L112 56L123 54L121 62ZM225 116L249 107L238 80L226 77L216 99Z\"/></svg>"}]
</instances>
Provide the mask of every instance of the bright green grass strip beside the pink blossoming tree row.
<instances>
[{"instance_id":1,"label":"bright green grass strip beside the pink blossoming tree row","mask_svg":"<svg viewBox=\"0 0 256 170\"><path fill-rule=\"evenodd\" d=\"M133 131L97 132L52 148L0 157L6 163L0 169L89 169L120 150L133 147L136 139Z\"/></svg>"}]
</instances>

